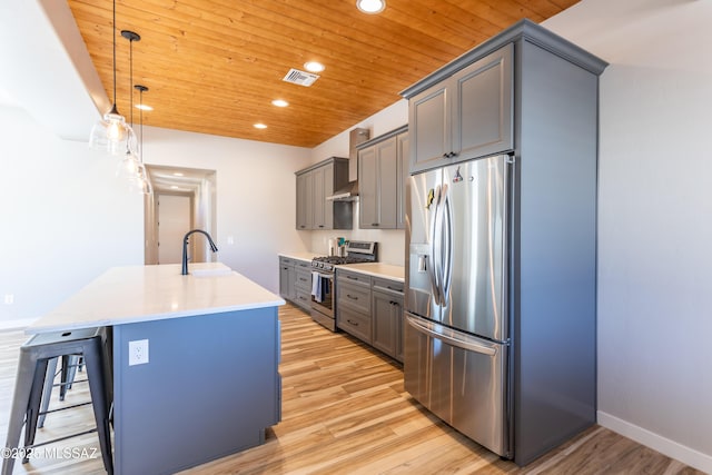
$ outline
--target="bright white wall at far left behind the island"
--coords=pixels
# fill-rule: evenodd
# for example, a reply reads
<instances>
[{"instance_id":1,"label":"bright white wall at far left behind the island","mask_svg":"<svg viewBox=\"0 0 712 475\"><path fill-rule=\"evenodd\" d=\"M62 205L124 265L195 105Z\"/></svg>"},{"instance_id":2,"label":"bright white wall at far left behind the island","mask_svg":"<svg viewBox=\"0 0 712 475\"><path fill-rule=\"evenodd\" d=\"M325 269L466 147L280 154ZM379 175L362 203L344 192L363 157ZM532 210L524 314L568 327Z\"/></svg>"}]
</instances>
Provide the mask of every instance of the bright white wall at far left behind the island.
<instances>
[{"instance_id":1,"label":"bright white wall at far left behind the island","mask_svg":"<svg viewBox=\"0 0 712 475\"><path fill-rule=\"evenodd\" d=\"M144 263L142 197L116 160L0 105L0 327L37 318L110 266ZM13 295L12 305L4 304Z\"/></svg>"}]
</instances>

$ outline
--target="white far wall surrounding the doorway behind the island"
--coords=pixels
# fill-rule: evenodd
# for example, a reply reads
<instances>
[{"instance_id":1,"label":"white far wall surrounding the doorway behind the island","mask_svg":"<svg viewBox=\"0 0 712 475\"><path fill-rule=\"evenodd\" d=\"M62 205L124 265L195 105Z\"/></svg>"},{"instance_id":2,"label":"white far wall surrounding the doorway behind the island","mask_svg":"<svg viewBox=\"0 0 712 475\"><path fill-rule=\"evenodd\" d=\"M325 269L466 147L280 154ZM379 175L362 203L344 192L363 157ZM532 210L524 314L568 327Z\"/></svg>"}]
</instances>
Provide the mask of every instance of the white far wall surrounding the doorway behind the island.
<instances>
[{"instance_id":1,"label":"white far wall surrounding the doorway behind the island","mask_svg":"<svg viewBox=\"0 0 712 475\"><path fill-rule=\"evenodd\" d=\"M295 227L294 172L310 149L144 127L144 160L216 170L218 260L257 284L278 291L277 253L309 249Z\"/></svg>"}]
</instances>

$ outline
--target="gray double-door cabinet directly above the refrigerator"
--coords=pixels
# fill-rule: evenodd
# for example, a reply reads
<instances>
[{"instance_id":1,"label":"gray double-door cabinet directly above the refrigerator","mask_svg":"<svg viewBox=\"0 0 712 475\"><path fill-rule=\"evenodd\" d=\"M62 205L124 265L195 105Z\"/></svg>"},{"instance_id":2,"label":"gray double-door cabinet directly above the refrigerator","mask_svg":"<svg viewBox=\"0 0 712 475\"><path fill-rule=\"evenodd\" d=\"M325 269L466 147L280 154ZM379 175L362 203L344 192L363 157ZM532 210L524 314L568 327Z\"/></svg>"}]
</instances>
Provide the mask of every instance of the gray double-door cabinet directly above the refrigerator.
<instances>
[{"instance_id":1,"label":"gray double-door cabinet directly above the refrigerator","mask_svg":"<svg viewBox=\"0 0 712 475\"><path fill-rule=\"evenodd\" d=\"M412 172L514 148L513 56L505 44L409 98Z\"/></svg>"}]
</instances>

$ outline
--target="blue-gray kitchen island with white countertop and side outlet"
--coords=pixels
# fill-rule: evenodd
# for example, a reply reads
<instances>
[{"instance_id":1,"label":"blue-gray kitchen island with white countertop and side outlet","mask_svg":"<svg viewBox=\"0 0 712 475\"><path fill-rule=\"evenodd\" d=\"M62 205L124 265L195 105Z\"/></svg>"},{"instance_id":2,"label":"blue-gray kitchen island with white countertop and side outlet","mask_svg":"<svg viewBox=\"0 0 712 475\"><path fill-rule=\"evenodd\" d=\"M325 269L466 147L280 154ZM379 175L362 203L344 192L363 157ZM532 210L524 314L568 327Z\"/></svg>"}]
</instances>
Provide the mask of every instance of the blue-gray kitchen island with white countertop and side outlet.
<instances>
[{"instance_id":1,"label":"blue-gray kitchen island with white countertop and side outlet","mask_svg":"<svg viewBox=\"0 0 712 475\"><path fill-rule=\"evenodd\" d=\"M115 473L169 474L279 422L284 303L217 263L115 267L27 333L110 327Z\"/></svg>"}]
</instances>

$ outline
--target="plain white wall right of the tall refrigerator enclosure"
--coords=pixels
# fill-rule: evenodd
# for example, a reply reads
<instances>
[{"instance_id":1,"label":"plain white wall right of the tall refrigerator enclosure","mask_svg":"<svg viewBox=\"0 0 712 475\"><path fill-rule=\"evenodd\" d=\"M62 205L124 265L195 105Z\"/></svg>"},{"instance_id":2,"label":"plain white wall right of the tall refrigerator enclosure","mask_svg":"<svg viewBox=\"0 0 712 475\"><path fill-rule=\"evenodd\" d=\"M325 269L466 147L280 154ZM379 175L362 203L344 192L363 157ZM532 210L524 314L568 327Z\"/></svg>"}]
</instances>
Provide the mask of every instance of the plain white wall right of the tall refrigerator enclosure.
<instances>
[{"instance_id":1,"label":"plain white wall right of the tall refrigerator enclosure","mask_svg":"<svg viewBox=\"0 0 712 475\"><path fill-rule=\"evenodd\" d=\"M712 473L712 3L584 0L545 22L601 78L599 423Z\"/></svg>"}]
</instances>

